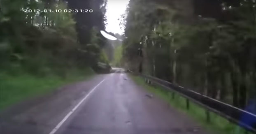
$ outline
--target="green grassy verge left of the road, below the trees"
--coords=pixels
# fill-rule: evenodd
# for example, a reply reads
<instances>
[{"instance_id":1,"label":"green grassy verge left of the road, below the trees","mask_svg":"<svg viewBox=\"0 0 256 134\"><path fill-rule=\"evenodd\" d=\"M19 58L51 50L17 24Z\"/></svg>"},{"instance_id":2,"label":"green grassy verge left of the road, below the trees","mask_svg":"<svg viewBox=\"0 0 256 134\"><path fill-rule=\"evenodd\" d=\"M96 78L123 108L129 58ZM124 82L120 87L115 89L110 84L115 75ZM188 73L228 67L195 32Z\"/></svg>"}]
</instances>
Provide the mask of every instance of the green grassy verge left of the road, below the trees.
<instances>
[{"instance_id":1,"label":"green grassy verge left of the road, below the trees","mask_svg":"<svg viewBox=\"0 0 256 134\"><path fill-rule=\"evenodd\" d=\"M94 72L90 68L70 70L65 78L56 74L35 76L27 73L10 75L0 72L0 109L30 97L50 93L61 85L88 79L93 74Z\"/></svg>"}]
</instances>

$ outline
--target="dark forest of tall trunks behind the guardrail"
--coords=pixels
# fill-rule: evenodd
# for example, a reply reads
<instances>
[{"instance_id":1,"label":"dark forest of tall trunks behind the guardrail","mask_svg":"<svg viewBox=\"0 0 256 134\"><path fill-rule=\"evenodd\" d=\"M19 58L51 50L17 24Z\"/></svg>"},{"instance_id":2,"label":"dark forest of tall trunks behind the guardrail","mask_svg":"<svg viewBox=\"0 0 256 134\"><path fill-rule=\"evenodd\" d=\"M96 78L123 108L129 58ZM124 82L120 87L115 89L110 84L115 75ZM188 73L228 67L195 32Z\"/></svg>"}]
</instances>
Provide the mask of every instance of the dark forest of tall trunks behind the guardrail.
<instances>
[{"instance_id":1,"label":"dark forest of tall trunks behind the guardrail","mask_svg":"<svg viewBox=\"0 0 256 134\"><path fill-rule=\"evenodd\" d=\"M123 67L240 108L255 100L255 0L130 0L120 25Z\"/></svg>"}]
</instances>

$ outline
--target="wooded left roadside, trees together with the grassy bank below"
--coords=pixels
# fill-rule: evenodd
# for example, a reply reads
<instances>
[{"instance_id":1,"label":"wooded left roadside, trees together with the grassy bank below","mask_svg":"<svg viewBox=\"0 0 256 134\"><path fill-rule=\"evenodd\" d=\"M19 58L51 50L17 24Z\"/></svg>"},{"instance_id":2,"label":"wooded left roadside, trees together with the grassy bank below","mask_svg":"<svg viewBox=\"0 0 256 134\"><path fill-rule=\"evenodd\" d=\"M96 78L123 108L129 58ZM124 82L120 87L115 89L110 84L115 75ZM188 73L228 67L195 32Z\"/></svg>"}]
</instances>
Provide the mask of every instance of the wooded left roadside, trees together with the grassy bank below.
<instances>
[{"instance_id":1,"label":"wooded left roadside, trees together with the grassy bank below","mask_svg":"<svg viewBox=\"0 0 256 134\"><path fill-rule=\"evenodd\" d=\"M107 42L100 35L100 30L105 29L106 3L107 0L0 0L0 107L56 88L71 81L71 77L75 81L91 75L98 71L98 62L108 64L102 49ZM25 9L93 12L24 12Z\"/></svg>"}]
</instances>

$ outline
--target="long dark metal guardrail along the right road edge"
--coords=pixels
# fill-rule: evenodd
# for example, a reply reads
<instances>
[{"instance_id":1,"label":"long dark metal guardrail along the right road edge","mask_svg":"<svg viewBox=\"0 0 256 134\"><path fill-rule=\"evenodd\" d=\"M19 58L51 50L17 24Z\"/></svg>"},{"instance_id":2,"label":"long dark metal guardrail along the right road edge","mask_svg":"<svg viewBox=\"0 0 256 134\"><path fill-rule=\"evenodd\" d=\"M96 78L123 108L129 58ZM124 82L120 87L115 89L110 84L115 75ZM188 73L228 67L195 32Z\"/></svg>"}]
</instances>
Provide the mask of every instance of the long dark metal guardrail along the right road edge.
<instances>
[{"instance_id":1,"label":"long dark metal guardrail along the right road edge","mask_svg":"<svg viewBox=\"0 0 256 134\"><path fill-rule=\"evenodd\" d=\"M128 70L128 72L134 73L130 70ZM206 109L207 121L210 120L209 111L211 111L219 116L222 116L223 118L226 118L230 122L240 125L249 132L256 134L256 115L253 113L249 113L237 107L231 106L230 104L220 102L216 99L212 99L193 90L183 88L182 86L174 85L168 81L143 74L139 75L145 78L147 83L156 83L185 97L187 109L189 109L189 101L204 107ZM243 118L246 118L246 120Z\"/></svg>"}]
</instances>

